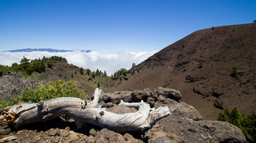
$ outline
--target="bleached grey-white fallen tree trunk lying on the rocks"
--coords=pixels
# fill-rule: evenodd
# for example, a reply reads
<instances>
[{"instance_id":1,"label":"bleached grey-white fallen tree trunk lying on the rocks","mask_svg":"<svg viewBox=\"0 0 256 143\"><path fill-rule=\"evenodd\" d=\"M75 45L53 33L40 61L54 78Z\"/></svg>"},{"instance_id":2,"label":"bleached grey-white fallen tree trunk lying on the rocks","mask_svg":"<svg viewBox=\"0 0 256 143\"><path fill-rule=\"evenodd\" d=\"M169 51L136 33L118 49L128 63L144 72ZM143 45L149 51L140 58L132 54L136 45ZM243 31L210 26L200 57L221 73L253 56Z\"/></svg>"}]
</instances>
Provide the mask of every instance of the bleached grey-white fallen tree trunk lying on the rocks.
<instances>
[{"instance_id":1,"label":"bleached grey-white fallen tree trunk lying on the rocks","mask_svg":"<svg viewBox=\"0 0 256 143\"><path fill-rule=\"evenodd\" d=\"M126 103L127 107L137 107L138 112L116 114L108 112L98 106L101 90L95 89L93 101L83 101L80 98L53 98L48 101L40 101L38 104L18 104L4 109L0 119L5 123L15 125L15 128L28 123L37 123L51 120L62 114L74 118L80 128L83 123L91 123L101 128L109 128L113 131L143 131L157 122L162 117L170 115L168 107L151 108L149 104Z\"/></svg>"}]
</instances>

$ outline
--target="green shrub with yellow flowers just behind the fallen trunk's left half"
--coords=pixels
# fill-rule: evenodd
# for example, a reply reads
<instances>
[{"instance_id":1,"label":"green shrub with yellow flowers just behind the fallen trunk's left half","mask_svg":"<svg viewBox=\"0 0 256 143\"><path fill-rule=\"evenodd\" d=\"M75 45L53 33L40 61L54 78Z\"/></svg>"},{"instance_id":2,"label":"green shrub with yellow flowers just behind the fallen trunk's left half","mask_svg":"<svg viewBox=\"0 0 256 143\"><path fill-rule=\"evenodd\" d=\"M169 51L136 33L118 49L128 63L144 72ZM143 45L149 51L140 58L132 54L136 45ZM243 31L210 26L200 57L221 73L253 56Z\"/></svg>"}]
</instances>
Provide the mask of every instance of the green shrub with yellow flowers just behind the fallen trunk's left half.
<instances>
[{"instance_id":1,"label":"green shrub with yellow flowers just behind the fallen trunk's left half","mask_svg":"<svg viewBox=\"0 0 256 143\"><path fill-rule=\"evenodd\" d=\"M20 104L21 102L33 102L37 103L39 101L46 101L51 98L59 97L76 97L85 99L83 96L85 94L84 90L77 87L76 82L64 82L58 80L56 82L47 82L37 86L36 89L25 88L20 95L13 97L9 101L1 101L0 107L9 107L15 104Z\"/></svg>"}]
</instances>

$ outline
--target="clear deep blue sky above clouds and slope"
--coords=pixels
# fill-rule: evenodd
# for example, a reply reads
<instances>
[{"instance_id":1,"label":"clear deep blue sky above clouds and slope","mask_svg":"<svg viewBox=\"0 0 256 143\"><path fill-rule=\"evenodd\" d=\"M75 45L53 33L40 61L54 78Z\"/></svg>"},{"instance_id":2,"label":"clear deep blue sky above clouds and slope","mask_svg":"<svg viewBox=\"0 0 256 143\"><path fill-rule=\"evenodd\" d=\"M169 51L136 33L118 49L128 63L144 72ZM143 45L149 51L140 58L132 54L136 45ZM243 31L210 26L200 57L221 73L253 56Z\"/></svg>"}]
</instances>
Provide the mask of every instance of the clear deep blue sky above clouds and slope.
<instances>
[{"instance_id":1,"label":"clear deep blue sky above clouds and slope","mask_svg":"<svg viewBox=\"0 0 256 143\"><path fill-rule=\"evenodd\" d=\"M255 19L255 0L0 0L0 51L158 51L193 31Z\"/></svg>"}]
</instances>

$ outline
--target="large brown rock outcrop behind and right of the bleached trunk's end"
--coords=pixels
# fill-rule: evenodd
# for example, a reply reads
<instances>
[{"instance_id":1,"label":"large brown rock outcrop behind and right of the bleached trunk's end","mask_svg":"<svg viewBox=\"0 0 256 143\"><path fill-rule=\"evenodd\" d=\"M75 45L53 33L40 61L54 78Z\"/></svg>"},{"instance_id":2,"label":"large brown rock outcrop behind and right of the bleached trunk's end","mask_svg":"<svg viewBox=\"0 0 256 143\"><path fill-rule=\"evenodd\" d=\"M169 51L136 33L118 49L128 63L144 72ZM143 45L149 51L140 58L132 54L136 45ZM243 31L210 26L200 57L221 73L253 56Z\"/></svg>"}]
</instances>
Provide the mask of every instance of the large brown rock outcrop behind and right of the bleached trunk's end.
<instances>
[{"instance_id":1,"label":"large brown rock outcrop behind and right of the bleached trunk's end","mask_svg":"<svg viewBox=\"0 0 256 143\"><path fill-rule=\"evenodd\" d=\"M120 95L120 96L118 96ZM148 142L246 142L241 130L230 123L217 120L203 120L197 110L181 99L178 90L170 88L146 88L133 92L119 91L104 93L102 106L113 105L109 110L116 113L135 112L135 109L118 104L118 100L128 102L146 101L157 108L168 106L172 115L159 120L146 131Z\"/></svg>"}]
</instances>

